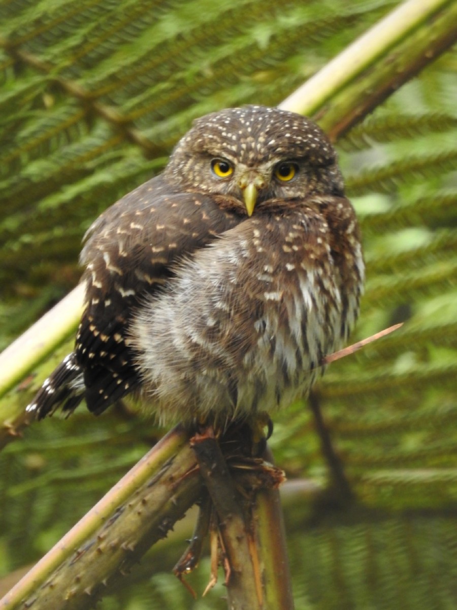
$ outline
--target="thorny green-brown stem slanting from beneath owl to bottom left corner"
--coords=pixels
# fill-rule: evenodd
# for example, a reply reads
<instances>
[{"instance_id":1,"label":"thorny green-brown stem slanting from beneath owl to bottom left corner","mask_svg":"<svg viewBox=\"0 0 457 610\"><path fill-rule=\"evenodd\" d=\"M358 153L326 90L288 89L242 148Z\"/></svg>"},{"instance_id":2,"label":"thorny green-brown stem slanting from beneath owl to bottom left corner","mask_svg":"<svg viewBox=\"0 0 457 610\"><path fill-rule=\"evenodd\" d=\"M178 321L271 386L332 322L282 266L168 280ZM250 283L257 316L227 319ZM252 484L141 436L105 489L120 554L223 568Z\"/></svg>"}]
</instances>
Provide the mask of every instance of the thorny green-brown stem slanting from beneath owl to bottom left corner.
<instances>
[{"instance_id":1,"label":"thorny green-brown stem slanting from beneath owl to bottom left corner","mask_svg":"<svg viewBox=\"0 0 457 610\"><path fill-rule=\"evenodd\" d=\"M0 600L2 609L85 610L197 500L188 435L174 428ZM92 603L93 603L92 601Z\"/></svg>"}]
</instances>

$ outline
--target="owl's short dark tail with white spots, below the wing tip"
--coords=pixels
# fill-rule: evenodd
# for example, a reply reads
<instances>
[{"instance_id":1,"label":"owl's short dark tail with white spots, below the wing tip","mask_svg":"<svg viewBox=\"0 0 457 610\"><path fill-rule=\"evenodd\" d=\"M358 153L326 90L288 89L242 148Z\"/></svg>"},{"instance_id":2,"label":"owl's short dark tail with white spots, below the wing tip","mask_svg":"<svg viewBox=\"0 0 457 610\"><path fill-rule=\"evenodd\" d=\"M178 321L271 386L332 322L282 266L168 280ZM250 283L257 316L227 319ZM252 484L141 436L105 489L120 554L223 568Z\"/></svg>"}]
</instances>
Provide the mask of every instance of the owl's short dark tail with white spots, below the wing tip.
<instances>
[{"instance_id":1,"label":"owl's short dark tail with white spots, below the wing tip","mask_svg":"<svg viewBox=\"0 0 457 610\"><path fill-rule=\"evenodd\" d=\"M34 413L43 419L54 413L58 407L62 411L73 412L84 398L84 381L82 370L76 362L74 352L68 354L35 395L34 400L27 405L26 411Z\"/></svg>"}]
</instances>

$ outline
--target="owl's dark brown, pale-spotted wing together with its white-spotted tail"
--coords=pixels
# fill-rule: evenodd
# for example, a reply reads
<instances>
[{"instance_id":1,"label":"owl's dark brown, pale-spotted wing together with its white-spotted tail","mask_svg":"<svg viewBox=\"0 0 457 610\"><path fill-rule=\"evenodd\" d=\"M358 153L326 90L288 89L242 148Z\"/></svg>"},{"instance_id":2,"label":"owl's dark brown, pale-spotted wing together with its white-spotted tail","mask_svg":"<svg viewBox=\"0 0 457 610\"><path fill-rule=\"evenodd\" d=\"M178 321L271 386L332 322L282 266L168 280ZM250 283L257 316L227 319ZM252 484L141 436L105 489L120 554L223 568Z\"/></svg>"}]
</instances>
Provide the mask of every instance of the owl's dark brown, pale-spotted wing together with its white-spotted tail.
<instances>
[{"instance_id":1,"label":"owl's dark brown, pale-spotted wing together with its white-spotted tail","mask_svg":"<svg viewBox=\"0 0 457 610\"><path fill-rule=\"evenodd\" d=\"M162 176L124 196L85 236L85 309L74 352L55 369L28 410L44 417L85 398L99 414L140 383L127 336L146 295L164 289L183 256L210 243L239 218L211 196L173 192Z\"/></svg>"}]
</instances>

